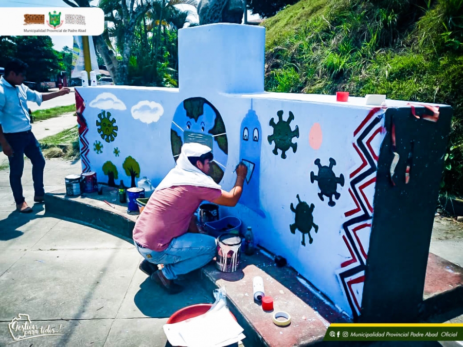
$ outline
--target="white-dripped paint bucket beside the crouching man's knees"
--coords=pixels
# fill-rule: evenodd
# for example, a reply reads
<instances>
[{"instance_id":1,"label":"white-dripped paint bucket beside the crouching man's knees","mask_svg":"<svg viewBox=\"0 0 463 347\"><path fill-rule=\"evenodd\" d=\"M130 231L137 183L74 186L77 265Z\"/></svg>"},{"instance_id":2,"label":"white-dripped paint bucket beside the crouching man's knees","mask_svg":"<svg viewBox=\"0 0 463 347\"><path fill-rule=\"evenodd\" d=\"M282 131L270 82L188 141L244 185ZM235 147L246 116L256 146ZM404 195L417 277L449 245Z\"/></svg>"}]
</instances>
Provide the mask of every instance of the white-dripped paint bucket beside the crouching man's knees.
<instances>
[{"instance_id":1,"label":"white-dripped paint bucket beside the crouching man's knees","mask_svg":"<svg viewBox=\"0 0 463 347\"><path fill-rule=\"evenodd\" d=\"M216 267L222 272L234 272L240 265L241 238L235 234L222 234L217 238Z\"/></svg>"}]
</instances>

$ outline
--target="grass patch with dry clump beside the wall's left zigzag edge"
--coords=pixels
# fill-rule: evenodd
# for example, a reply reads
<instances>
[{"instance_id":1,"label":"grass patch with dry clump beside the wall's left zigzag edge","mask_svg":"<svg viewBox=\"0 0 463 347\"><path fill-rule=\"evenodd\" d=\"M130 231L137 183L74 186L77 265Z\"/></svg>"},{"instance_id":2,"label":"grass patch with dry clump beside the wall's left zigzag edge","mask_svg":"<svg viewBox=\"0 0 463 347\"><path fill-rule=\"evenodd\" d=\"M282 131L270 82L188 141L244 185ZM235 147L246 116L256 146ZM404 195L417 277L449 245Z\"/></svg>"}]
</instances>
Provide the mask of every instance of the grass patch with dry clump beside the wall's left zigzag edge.
<instances>
[{"instance_id":1,"label":"grass patch with dry clump beside the wall's left zigzag edge","mask_svg":"<svg viewBox=\"0 0 463 347\"><path fill-rule=\"evenodd\" d=\"M39 140L45 158L76 159L80 157L77 126Z\"/></svg>"}]
</instances>

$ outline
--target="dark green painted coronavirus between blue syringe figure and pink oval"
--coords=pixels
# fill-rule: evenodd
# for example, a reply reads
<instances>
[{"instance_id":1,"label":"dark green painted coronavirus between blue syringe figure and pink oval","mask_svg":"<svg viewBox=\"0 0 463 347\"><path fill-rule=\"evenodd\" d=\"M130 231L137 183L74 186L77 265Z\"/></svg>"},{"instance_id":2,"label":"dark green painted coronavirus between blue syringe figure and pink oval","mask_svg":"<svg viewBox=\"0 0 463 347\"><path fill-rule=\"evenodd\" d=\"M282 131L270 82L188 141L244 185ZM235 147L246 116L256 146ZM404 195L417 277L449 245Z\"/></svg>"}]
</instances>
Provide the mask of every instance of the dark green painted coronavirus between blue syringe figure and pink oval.
<instances>
[{"instance_id":1,"label":"dark green painted coronavirus between blue syringe figure and pink oval","mask_svg":"<svg viewBox=\"0 0 463 347\"><path fill-rule=\"evenodd\" d=\"M291 121L294 120L294 115L290 111L288 120L283 120L283 111L280 110L277 112L278 123L275 123L273 118L270 120L270 126L273 127L273 134L269 135L267 138L269 143L275 141L275 148L273 149L273 154L278 155L278 150L281 150L281 158L286 159L286 151L290 148L293 149L293 153L296 153L297 143L293 143L293 137L299 138L299 127L296 125L295 130L291 130Z\"/></svg>"}]
</instances>

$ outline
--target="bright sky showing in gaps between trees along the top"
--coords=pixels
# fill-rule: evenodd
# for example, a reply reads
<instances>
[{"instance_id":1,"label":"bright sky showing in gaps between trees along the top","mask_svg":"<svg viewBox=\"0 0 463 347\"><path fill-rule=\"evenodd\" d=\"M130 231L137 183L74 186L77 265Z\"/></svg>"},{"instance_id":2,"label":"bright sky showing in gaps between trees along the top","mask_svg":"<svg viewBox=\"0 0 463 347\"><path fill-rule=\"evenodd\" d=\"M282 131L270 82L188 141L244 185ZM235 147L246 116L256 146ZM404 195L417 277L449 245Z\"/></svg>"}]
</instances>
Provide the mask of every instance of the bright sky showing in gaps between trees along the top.
<instances>
[{"instance_id":1,"label":"bright sky showing in gaps between trees along the top","mask_svg":"<svg viewBox=\"0 0 463 347\"><path fill-rule=\"evenodd\" d=\"M98 0L93 0L93 6L98 5ZM69 7L62 0L0 0L0 7ZM194 10L192 6L186 6L184 10ZM259 18L259 15L253 15L248 12L248 20ZM197 18L197 16L195 16ZM194 21L194 18L191 19ZM198 20L196 19L198 22ZM61 51L64 46L73 47L73 36L50 36L54 43L54 48Z\"/></svg>"}]
</instances>

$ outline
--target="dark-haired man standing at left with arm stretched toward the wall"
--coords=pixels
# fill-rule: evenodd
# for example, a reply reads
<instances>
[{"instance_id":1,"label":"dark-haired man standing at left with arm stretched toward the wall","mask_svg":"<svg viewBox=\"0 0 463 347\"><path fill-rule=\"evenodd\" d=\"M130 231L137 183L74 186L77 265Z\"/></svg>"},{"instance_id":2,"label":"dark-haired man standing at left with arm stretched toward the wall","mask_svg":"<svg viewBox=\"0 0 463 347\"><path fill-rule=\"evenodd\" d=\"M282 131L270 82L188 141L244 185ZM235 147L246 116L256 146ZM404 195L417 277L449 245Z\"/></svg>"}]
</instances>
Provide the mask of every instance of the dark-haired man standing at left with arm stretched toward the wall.
<instances>
[{"instance_id":1,"label":"dark-haired man standing at left with arm stretched toward the wall","mask_svg":"<svg viewBox=\"0 0 463 347\"><path fill-rule=\"evenodd\" d=\"M24 169L24 155L32 162L34 181L34 202L43 202L43 169L45 159L40 151L39 142L32 134L27 101L50 100L69 94L68 88L58 92L42 94L23 84L28 65L19 59L12 59L5 66L5 76L0 78L0 144L10 163L10 186L13 191L16 210L22 213L32 212L23 196L21 177Z\"/></svg>"}]
</instances>

